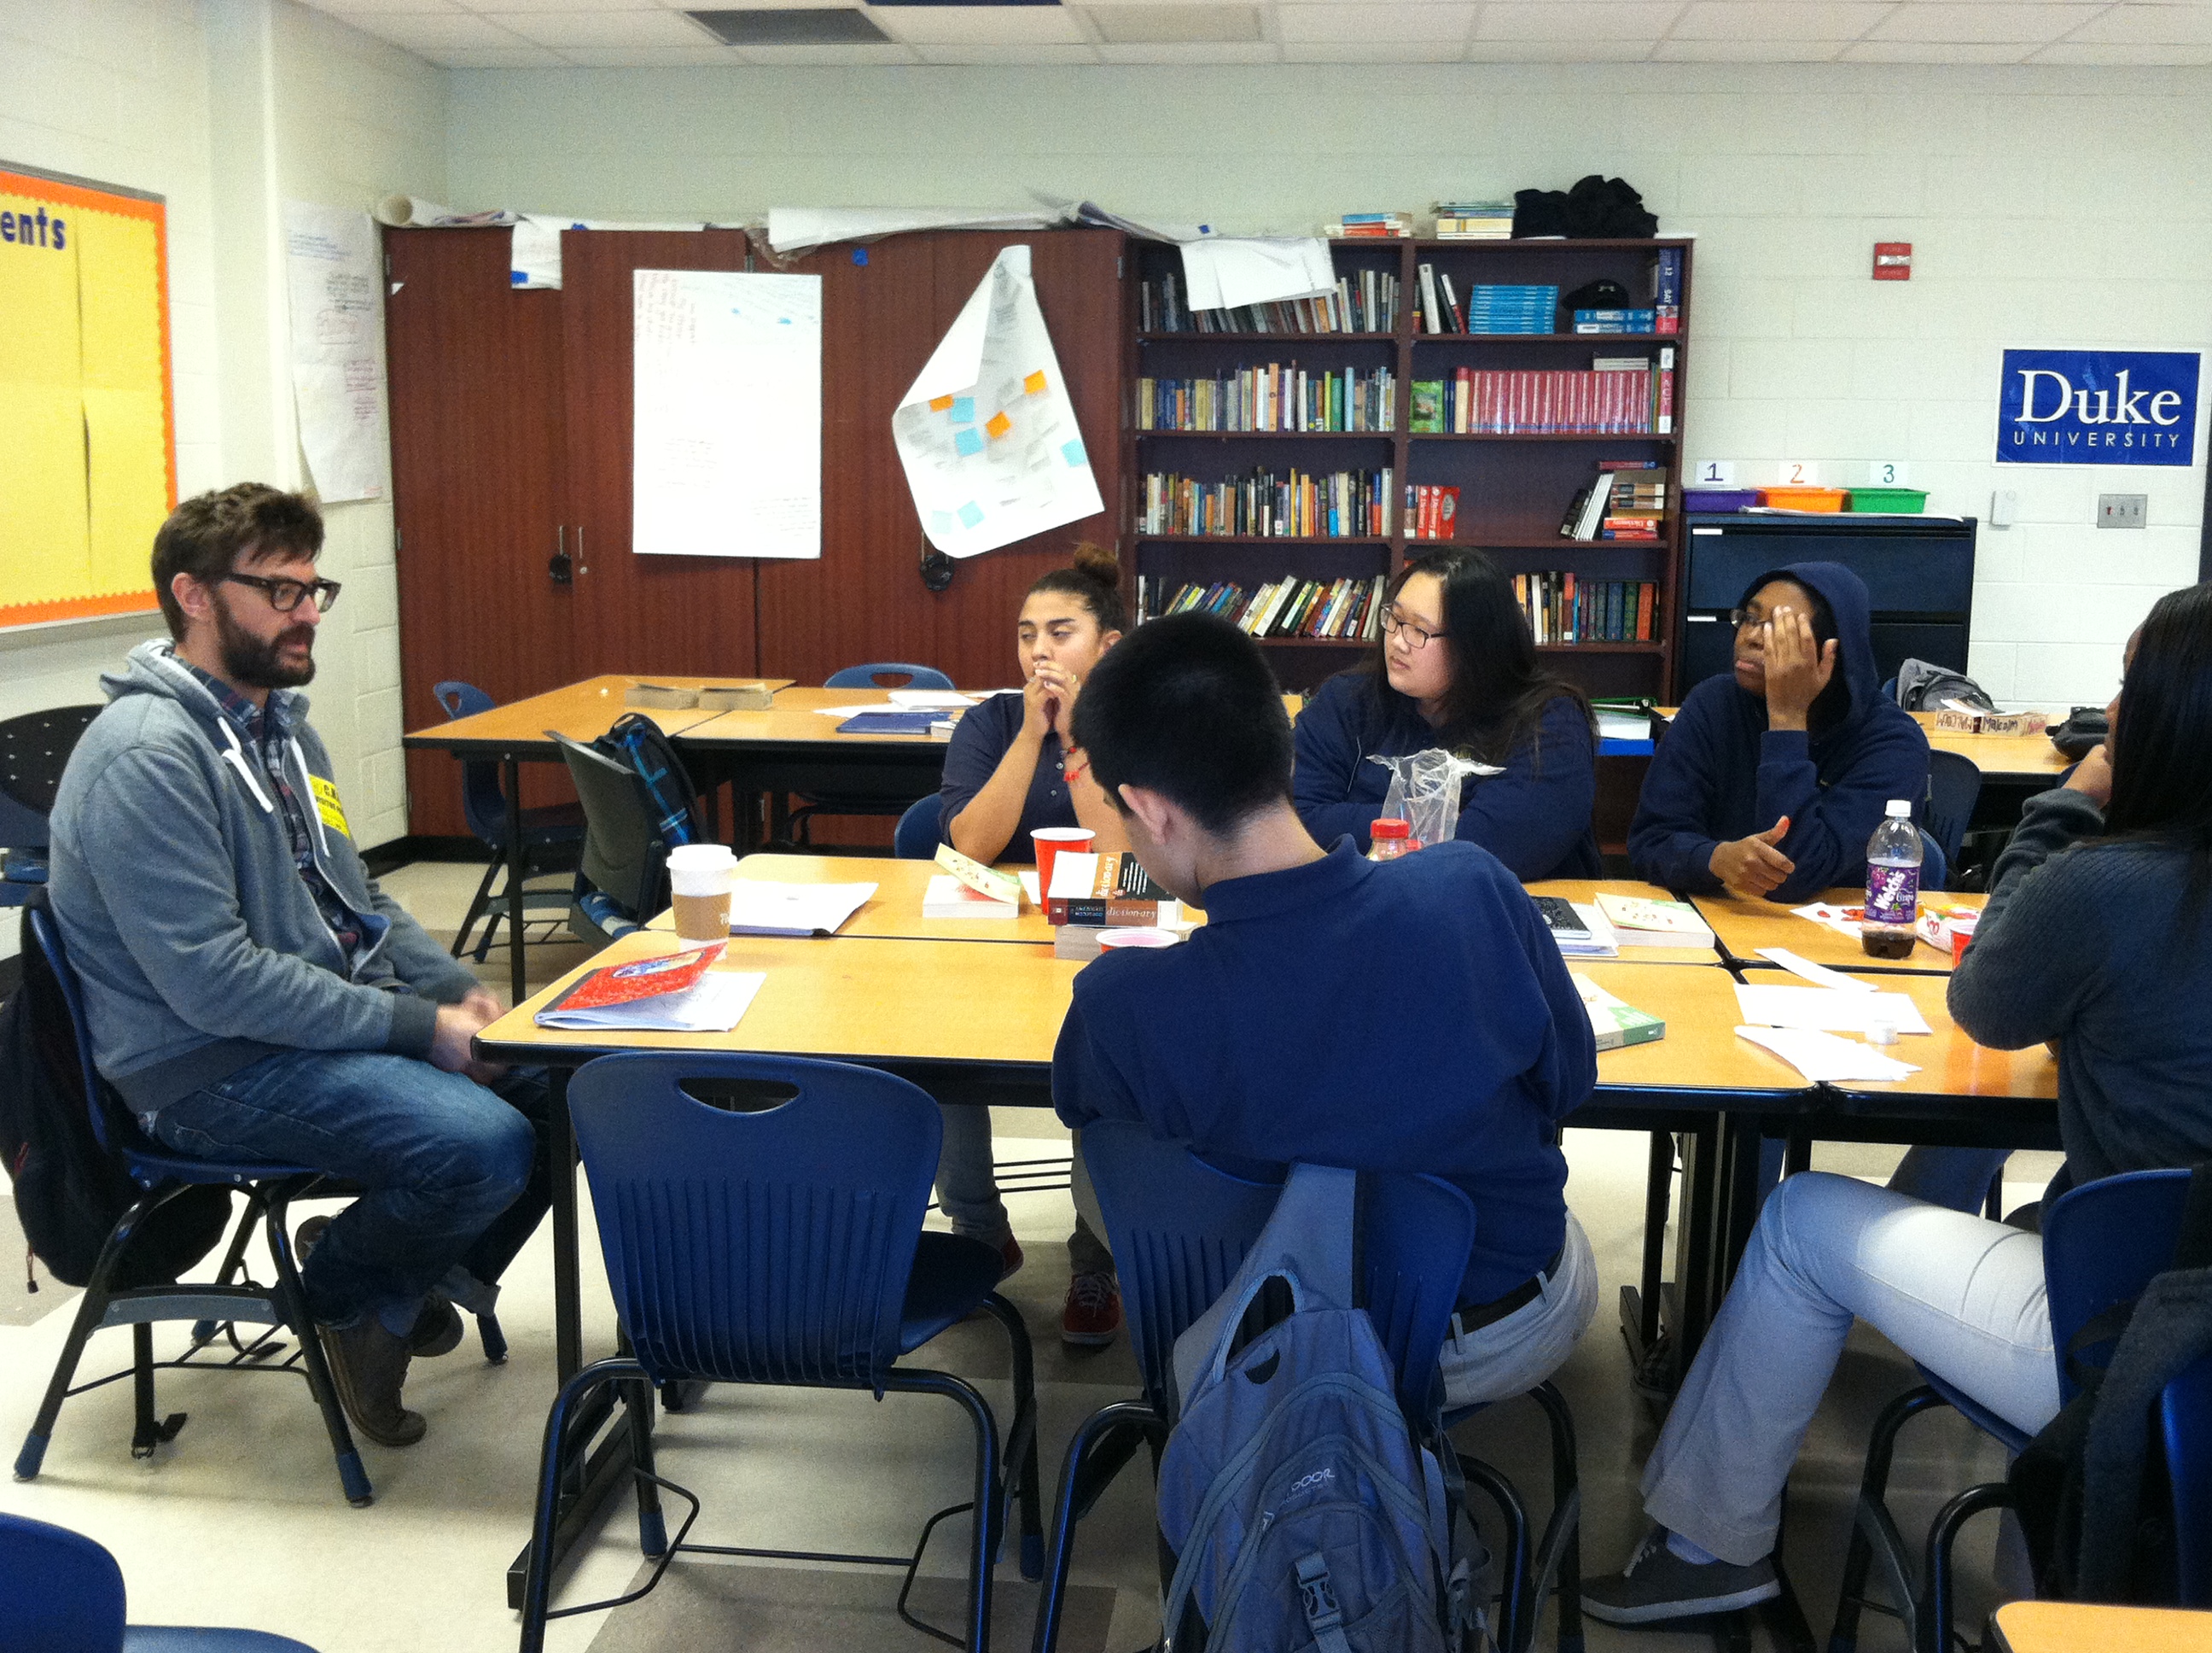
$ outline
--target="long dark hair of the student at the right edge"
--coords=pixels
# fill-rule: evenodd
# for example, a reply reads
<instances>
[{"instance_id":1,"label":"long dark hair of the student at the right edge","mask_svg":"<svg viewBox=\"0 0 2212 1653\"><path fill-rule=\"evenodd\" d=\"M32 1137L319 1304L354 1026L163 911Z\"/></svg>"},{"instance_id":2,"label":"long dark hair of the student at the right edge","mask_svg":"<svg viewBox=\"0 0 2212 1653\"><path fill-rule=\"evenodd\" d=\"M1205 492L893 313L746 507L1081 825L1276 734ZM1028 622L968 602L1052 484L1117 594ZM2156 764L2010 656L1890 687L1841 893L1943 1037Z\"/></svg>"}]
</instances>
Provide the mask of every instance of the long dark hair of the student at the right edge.
<instances>
[{"instance_id":1,"label":"long dark hair of the student at the right edge","mask_svg":"<svg viewBox=\"0 0 2212 1653\"><path fill-rule=\"evenodd\" d=\"M2212 894L2212 584L2168 591L2128 664L2106 832L2190 852L2188 909Z\"/></svg>"}]
</instances>

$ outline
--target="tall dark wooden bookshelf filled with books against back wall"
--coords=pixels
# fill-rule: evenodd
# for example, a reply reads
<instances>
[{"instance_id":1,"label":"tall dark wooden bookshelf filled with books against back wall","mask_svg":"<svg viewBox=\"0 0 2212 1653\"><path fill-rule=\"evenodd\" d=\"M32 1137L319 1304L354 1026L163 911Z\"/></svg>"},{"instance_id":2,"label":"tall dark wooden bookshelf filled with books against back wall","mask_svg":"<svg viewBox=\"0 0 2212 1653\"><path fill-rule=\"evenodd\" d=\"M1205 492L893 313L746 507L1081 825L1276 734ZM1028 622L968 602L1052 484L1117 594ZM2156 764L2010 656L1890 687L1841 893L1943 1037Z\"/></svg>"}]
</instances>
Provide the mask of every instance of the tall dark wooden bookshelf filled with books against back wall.
<instances>
[{"instance_id":1,"label":"tall dark wooden bookshelf filled with books against back wall","mask_svg":"<svg viewBox=\"0 0 2212 1653\"><path fill-rule=\"evenodd\" d=\"M1475 288L1557 288L1564 294L1597 279L1617 281L1630 294L1630 305L1650 305L1650 266L1661 248L1677 250L1681 261L1679 330L1672 334L1577 334L1559 332L1566 312L1548 316L1548 332L1427 332L1422 301L1422 266L1433 277L1449 277L1460 314L1473 312ZM1332 241L1336 272L1356 299L1349 316L1325 316L1310 301L1305 321L1338 321L1345 330L1303 330L1290 305L1279 305L1274 325L1250 332L1201 332L1188 312L1170 314L1166 279L1181 290L1181 252L1172 246L1133 241L1135 279L1128 281L1128 352L1124 396L1124 558L1133 609L1144 604L1157 613L1183 584L1230 582L1252 597L1281 580L1314 580L1332 584L1387 578L1442 544L1475 544L1489 551L1515 575L1575 575L1577 591L1588 582L1621 582L1655 586L1655 602L1644 640L1610 642L1542 642L1540 651L1555 670L1590 695L1672 697L1674 628L1679 615L1683 524L1681 524L1681 443L1683 385L1690 365L1690 263L1692 243L1657 241ZM1528 308L1524 305L1524 319ZM1239 316L1250 321L1248 316ZM1221 321L1221 316L1210 316ZM1442 429L1416 432L1413 385L1460 383L1467 374L1467 414L1480 423L1484 412L1517 416L1526 407L1484 403L1475 392L1480 374L1513 374L1517 378L1484 378L1486 387L1548 383L1544 374L1588 374L1595 358L1646 358L1652 381L1661 347L1672 350L1672 429ZM1305 374L1307 394L1298 396L1296 374ZM1374 418L1371 387L1387 376L1389 418ZM1608 381L1610 374L1597 374ZM1641 374L1624 374L1641 378ZM1314 394L1323 381L1334 394ZM1646 381L1646 383L1652 383ZM1340 387L1363 392L1363 427L1340 409L1352 401ZM1201 385L1206 389L1201 389ZM1164 389L1166 387L1166 389ZM1484 392L1489 394L1489 392ZM1635 423L1635 398L1615 396L1595 403L1604 392L1559 394L1584 396L1546 405L1553 423L1604 416L1613 425ZM1329 429L1312 429L1312 423ZM1254 429L1183 429L1179 423L1243 423ZM1462 420L1464 423L1464 420ZM1586 489L1599 462L1648 465L1639 480L1663 485L1666 507L1655 540L1571 540L1559 536L1559 520L1575 496ZM1175 478L1188 500L1197 487L1217 489L1239 482L1241 500L1254 493L1252 478L1272 478L1276 496L1290 476L1358 478L1380 482L1387 476L1389 524L1374 531L1371 522L1354 520L1345 533L1272 533L1234 531L1206 533L1199 527L1221 522L1234 529L1254 527L1234 513L1217 511L1206 522L1197 511L1161 511L1161 500L1175 496L1159 478ZM1407 487L1458 489L1458 513L1449 538L1409 536ZM1263 527L1276 527L1267 522ZM1298 518L1292 527L1314 527ZM1626 604L1624 604L1626 606ZM1349 622L1363 615L1356 609ZM1619 628L1619 622L1613 626ZM1588 624L1577 635L1586 637ZM1312 688L1323 677L1358 662L1369 646L1365 637L1263 635L1276 675L1285 688Z\"/></svg>"}]
</instances>

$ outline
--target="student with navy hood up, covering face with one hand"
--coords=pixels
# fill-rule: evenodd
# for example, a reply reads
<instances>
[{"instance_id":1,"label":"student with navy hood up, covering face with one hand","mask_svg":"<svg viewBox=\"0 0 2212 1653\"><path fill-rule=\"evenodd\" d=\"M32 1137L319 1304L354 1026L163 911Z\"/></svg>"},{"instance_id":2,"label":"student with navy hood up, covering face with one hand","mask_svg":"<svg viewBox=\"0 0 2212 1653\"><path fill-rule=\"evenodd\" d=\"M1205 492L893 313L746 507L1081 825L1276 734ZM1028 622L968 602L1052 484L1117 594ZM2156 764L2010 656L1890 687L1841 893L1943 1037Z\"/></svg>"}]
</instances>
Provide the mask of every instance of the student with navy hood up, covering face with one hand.
<instances>
[{"instance_id":1,"label":"student with navy hood up, covering face with one hand","mask_svg":"<svg viewBox=\"0 0 2212 1653\"><path fill-rule=\"evenodd\" d=\"M1927 797L1929 741L1880 693L1867 586L1792 562L1743 593L1736 668L1690 690L1628 830L1639 879L1812 901L1867 874L1889 799Z\"/></svg>"}]
</instances>

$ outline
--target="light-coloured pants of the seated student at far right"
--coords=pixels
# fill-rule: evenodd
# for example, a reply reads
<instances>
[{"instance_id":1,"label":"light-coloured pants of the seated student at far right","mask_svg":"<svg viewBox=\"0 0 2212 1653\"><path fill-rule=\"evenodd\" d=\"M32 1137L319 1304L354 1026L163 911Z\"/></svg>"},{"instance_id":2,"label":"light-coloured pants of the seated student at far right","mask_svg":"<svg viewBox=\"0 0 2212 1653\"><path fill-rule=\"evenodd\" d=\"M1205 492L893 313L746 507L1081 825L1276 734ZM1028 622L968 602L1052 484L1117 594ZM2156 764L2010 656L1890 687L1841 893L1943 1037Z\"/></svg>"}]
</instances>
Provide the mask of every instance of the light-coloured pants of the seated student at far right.
<instances>
[{"instance_id":1,"label":"light-coloured pants of the seated student at far right","mask_svg":"<svg viewBox=\"0 0 2212 1653\"><path fill-rule=\"evenodd\" d=\"M1854 1317L2020 1430L2059 1410L2037 1235L1805 1171L1759 1213L1644 1465L1644 1511L1739 1567L1767 1556Z\"/></svg>"}]
</instances>

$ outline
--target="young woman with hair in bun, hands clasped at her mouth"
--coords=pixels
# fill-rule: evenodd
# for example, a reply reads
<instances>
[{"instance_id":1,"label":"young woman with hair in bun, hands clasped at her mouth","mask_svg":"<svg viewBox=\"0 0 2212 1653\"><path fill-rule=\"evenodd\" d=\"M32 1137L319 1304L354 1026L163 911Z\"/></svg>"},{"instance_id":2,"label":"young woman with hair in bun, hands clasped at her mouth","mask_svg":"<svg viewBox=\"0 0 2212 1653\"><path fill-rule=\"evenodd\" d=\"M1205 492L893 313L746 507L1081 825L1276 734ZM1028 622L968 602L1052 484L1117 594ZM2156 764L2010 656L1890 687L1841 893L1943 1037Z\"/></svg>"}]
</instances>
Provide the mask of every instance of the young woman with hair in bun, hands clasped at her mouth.
<instances>
[{"instance_id":1,"label":"young woman with hair in bun, hands clasped at her mouth","mask_svg":"<svg viewBox=\"0 0 2212 1653\"><path fill-rule=\"evenodd\" d=\"M945 752L938 836L975 861L1035 861L1029 834L1040 828L1091 828L1099 854L1128 850L1121 812L1106 801L1073 744L1075 699L1108 648L1121 642L1121 564L1113 551L1077 544L1068 569L1053 569L1022 600L1015 620L1020 695L991 695L953 724ZM1068 1235L1068 1299L1060 1314L1066 1343L1110 1343L1121 1325L1121 1292L1106 1250L1097 1195L1073 1151L1075 1233ZM982 1239L1011 1275L1022 1248L1006 1221L991 1164L991 1111L945 1109L938 1204L953 1233Z\"/></svg>"}]
</instances>

